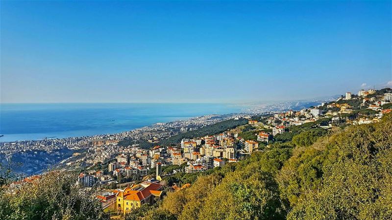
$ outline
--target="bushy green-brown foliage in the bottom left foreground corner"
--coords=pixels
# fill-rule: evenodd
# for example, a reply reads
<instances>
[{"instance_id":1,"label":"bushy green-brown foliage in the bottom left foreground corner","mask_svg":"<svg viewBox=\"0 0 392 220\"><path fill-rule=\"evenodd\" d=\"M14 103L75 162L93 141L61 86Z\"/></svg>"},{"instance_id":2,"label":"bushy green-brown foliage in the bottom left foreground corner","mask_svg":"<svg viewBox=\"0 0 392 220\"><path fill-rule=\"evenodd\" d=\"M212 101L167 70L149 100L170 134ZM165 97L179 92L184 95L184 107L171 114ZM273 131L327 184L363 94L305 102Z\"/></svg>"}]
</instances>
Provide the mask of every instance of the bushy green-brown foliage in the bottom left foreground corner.
<instances>
[{"instance_id":1,"label":"bushy green-brown foliage in the bottom left foreground corner","mask_svg":"<svg viewBox=\"0 0 392 220\"><path fill-rule=\"evenodd\" d=\"M20 188L0 192L0 219L107 220L92 192L75 185L68 172L49 172Z\"/></svg>"}]
</instances>

